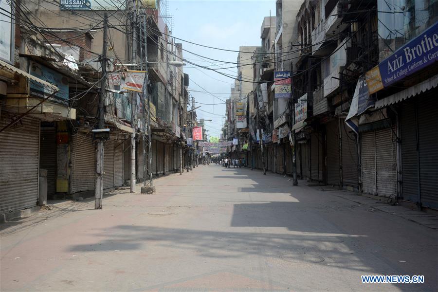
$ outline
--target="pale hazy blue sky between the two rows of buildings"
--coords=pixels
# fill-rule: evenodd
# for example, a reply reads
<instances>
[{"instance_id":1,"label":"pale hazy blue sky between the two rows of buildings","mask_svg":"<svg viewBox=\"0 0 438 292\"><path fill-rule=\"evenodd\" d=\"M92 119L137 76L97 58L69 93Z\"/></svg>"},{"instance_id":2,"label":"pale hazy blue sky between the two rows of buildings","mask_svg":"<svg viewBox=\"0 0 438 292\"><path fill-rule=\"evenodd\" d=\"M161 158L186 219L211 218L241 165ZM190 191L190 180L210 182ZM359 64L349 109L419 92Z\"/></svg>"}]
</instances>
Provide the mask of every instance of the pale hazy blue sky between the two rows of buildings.
<instances>
[{"instance_id":1,"label":"pale hazy blue sky between the two rows of buildings","mask_svg":"<svg viewBox=\"0 0 438 292\"><path fill-rule=\"evenodd\" d=\"M239 46L259 46L263 18L269 16L270 10L271 15L275 16L275 0L167 0L167 5L168 13L172 16L174 37L236 51ZM227 62L237 61L237 52L203 48L178 39L175 41L183 43L183 49L198 55ZM235 64L202 59L186 51L183 51L183 57L191 62L212 68L233 66L231 69L220 72L236 76ZM212 122L205 123L206 129L209 130L207 133L219 137L222 122L220 116L225 115L224 101L229 98L234 80L211 70L194 68L190 64L184 66L184 73L190 76L189 89L192 90L190 94L195 97L196 102L215 104L197 104L196 106L201 106L201 108L196 112L199 118L212 120ZM215 96L196 92L204 90Z\"/></svg>"}]
</instances>

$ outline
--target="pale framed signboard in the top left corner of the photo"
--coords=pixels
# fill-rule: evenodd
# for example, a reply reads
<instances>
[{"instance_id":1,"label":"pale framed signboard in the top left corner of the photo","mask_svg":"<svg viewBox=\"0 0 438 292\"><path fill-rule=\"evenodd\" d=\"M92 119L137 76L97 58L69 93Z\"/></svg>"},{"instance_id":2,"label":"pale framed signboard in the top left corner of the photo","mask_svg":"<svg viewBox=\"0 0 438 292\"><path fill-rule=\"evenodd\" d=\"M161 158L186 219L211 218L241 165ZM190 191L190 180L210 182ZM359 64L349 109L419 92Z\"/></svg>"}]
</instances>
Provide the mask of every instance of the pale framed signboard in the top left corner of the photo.
<instances>
[{"instance_id":1,"label":"pale framed signboard in the top left corner of the photo","mask_svg":"<svg viewBox=\"0 0 438 292\"><path fill-rule=\"evenodd\" d=\"M0 0L0 59L13 63L14 61L14 25L11 19L14 18L10 1Z\"/></svg>"}]
</instances>

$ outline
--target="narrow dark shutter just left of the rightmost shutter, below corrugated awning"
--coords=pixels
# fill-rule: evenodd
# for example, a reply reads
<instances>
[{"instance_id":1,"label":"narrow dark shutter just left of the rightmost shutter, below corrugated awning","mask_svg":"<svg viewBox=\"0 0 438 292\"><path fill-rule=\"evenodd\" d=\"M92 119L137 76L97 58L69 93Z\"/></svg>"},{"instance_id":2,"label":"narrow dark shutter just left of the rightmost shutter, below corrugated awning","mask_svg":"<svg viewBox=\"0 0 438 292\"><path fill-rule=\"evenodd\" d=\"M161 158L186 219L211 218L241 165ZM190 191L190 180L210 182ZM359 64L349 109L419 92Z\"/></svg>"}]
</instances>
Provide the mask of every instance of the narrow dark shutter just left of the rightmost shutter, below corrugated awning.
<instances>
[{"instance_id":1,"label":"narrow dark shutter just left of the rightmost shutter, below corrugated awning","mask_svg":"<svg viewBox=\"0 0 438 292\"><path fill-rule=\"evenodd\" d=\"M400 115L402 131L402 196L403 200L418 202L417 123L413 101L403 103Z\"/></svg>"}]
</instances>

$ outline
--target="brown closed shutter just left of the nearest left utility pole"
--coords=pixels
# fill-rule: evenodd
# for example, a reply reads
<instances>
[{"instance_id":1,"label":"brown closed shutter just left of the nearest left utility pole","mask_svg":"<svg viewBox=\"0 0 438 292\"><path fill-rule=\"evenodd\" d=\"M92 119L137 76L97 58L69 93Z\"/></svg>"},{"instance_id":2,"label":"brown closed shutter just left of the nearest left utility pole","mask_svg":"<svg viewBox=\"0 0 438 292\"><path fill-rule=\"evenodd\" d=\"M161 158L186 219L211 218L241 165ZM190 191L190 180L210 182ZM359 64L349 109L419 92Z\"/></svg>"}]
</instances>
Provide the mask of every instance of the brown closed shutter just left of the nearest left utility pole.
<instances>
[{"instance_id":1,"label":"brown closed shutter just left of the nearest left utility pole","mask_svg":"<svg viewBox=\"0 0 438 292\"><path fill-rule=\"evenodd\" d=\"M87 134L78 132L73 136L73 193L94 189L95 164L95 149L91 132Z\"/></svg>"}]
</instances>

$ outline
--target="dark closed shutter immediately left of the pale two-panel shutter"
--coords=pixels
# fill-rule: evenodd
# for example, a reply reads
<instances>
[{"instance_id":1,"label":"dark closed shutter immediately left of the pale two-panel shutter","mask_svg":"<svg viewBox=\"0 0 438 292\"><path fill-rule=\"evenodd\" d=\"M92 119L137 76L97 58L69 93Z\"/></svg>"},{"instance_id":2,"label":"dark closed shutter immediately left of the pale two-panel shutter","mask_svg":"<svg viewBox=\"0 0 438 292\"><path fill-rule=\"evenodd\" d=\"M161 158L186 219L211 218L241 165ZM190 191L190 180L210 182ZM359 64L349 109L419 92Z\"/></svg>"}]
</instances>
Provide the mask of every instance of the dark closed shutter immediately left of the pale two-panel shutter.
<instances>
[{"instance_id":1,"label":"dark closed shutter immediately left of the pale two-panel shutter","mask_svg":"<svg viewBox=\"0 0 438 292\"><path fill-rule=\"evenodd\" d=\"M358 186L358 164L356 136L348 126L341 123L342 137L342 183Z\"/></svg>"}]
</instances>

